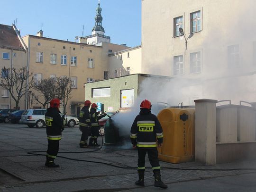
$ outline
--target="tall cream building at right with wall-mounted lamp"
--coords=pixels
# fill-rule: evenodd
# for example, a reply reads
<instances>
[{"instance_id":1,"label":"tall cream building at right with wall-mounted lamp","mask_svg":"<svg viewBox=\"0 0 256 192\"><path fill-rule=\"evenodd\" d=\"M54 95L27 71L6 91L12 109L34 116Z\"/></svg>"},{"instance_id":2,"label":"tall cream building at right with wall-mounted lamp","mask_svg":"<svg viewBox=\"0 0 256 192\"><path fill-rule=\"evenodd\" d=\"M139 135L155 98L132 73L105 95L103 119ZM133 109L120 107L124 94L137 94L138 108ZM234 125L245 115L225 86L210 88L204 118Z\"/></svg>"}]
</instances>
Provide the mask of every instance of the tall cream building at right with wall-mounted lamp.
<instances>
[{"instance_id":1,"label":"tall cream building at right with wall-mounted lamp","mask_svg":"<svg viewBox=\"0 0 256 192\"><path fill-rule=\"evenodd\" d=\"M141 2L142 73L200 80L181 92L189 105L198 98L256 101L256 1Z\"/></svg>"}]
</instances>

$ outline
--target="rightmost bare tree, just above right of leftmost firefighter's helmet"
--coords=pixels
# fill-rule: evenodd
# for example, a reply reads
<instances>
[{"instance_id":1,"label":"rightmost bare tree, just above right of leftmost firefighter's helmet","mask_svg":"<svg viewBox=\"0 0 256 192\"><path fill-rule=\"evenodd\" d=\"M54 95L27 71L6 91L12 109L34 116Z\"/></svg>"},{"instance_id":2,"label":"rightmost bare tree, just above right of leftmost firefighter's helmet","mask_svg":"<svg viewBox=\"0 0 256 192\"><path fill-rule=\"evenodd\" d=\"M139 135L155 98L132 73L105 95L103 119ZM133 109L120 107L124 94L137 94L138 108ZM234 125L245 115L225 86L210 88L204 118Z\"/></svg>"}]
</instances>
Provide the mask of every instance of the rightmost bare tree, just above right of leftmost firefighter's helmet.
<instances>
[{"instance_id":1,"label":"rightmost bare tree, just above right of leftmost firefighter's helmet","mask_svg":"<svg viewBox=\"0 0 256 192\"><path fill-rule=\"evenodd\" d=\"M73 83L71 78L66 76L56 77L55 81L58 90L57 97L63 100L63 113L65 114L67 102L72 98L71 92L73 89Z\"/></svg>"}]
</instances>

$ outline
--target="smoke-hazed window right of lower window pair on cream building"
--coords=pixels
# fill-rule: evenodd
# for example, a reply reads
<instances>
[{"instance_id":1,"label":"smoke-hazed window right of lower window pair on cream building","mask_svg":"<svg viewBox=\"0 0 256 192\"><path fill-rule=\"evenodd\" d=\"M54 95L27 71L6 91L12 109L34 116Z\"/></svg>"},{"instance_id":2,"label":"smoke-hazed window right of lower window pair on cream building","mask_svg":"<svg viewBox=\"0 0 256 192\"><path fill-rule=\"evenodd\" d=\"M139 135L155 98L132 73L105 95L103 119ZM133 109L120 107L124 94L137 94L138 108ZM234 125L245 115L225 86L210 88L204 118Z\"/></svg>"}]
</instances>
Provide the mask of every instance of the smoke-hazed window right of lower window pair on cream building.
<instances>
[{"instance_id":1,"label":"smoke-hazed window right of lower window pair on cream building","mask_svg":"<svg viewBox=\"0 0 256 192\"><path fill-rule=\"evenodd\" d=\"M237 67L239 65L239 59L239 45L228 46L228 67Z\"/></svg>"}]
</instances>

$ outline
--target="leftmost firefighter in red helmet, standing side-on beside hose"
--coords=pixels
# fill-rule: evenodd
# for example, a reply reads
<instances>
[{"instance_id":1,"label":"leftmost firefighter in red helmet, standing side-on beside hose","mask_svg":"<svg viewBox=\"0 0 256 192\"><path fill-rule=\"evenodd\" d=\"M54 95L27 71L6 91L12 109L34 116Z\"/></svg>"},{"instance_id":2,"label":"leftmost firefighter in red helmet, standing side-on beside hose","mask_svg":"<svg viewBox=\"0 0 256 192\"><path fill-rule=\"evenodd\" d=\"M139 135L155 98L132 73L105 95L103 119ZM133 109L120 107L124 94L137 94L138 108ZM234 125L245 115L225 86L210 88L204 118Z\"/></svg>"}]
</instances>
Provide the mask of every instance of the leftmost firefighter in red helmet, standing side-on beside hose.
<instances>
[{"instance_id":1,"label":"leftmost firefighter in red helmet, standing side-on beside hose","mask_svg":"<svg viewBox=\"0 0 256 192\"><path fill-rule=\"evenodd\" d=\"M50 108L47 109L46 118L46 134L48 140L48 149L46 154L47 167L60 167L54 163L59 151L59 141L61 140L61 132L64 129L64 119L59 114L60 100L52 99Z\"/></svg>"}]
</instances>

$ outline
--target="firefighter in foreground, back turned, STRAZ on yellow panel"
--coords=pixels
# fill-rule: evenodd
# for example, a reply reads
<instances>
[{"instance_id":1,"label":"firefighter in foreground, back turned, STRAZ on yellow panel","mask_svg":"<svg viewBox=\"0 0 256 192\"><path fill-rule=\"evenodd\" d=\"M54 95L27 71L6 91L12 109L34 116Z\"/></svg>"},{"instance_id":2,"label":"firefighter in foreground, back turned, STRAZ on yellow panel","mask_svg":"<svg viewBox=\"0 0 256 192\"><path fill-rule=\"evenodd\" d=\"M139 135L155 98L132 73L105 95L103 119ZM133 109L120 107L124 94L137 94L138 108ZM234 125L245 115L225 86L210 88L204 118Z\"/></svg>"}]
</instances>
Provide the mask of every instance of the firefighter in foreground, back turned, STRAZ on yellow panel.
<instances>
[{"instance_id":1,"label":"firefighter in foreground, back turned, STRAZ on yellow panel","mask_svg":"<svg viewBox=\"0 0 256 192\"><path fill-rule=\"evenodd\" d=\"M157 146L161 147L163 143L163 129L157 117L151 113L151 103L149 100L143 100L140 104L139 115L135 118L131 126L131 142L133 147L138 150L138 181L136 185L145 186L144 172L145 172L145 156L147 156L152 166L155 176L155 187L166 189L161 181L160 164L158 160Z\"/></svg>"}]
</instances>

